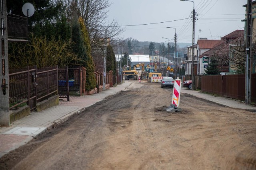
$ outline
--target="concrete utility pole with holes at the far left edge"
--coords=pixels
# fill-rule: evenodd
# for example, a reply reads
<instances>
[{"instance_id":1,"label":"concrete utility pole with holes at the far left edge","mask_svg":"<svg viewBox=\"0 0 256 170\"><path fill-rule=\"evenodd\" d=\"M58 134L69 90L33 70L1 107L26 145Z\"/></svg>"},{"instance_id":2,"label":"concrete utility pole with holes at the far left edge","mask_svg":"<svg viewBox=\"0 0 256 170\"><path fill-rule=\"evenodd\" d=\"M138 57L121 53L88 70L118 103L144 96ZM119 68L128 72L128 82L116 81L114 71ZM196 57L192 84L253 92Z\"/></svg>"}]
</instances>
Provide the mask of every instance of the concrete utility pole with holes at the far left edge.
<instances>
[{"instance_id":1,"label":"concrete utility pole with holes at the far left edge","mask_svg":"<svg viewBox=\"0 0 256 170\"><path fill-rule=\"evenodd\" d=\"M8 65L8 36L7 36L7 12L6 0L0 0L2 4L1 11L1 68L0 68L0 125L10 126L9 115L9 65Z\"/></svg>"}]
</instances>

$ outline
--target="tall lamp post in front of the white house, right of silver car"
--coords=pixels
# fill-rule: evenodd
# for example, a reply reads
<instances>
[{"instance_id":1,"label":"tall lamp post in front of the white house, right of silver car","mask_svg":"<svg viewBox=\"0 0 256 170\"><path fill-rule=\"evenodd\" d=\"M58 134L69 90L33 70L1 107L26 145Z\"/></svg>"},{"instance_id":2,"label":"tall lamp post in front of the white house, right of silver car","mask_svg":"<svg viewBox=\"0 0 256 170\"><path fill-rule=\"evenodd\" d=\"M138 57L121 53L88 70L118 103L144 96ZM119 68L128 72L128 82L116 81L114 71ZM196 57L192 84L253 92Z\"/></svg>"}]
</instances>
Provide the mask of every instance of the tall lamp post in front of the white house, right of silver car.
<instances>
[{"instance_id":1,"label":"tall lamp post in front of the white house, right of silver car","mask_svg":"<svg viewBox=\"0 0 256 170\"><path fill-rule=\"evenodd\" d=\"M180 0L180 1L189 1L193 2L193 32L192 32L192 90L195 90L195 74L194 74L194 67L195 67L195 3L192 0Z\"/></svg>"}]
</instances>

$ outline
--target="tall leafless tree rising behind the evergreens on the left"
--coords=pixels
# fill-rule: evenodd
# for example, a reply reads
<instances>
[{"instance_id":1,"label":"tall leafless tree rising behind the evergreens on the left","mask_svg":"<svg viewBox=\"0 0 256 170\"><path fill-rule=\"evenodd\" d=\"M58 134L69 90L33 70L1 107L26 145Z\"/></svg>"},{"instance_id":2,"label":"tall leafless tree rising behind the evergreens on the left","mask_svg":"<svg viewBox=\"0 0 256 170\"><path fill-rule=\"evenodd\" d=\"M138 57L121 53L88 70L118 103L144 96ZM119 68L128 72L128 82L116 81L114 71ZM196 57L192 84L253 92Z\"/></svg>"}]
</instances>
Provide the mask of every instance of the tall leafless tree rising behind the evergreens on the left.
<instances>
[{"instance_id":1,"label":"tall leafless tree rising behind the evergreens on the left","mask_svg":"<svg viewBox=\"0 0 256 170\"><path fill-rule=\"evenodd\" d=\"M107 21L108 8L111 4L108 0L54 1L63 4L62 15L66 16L68 22L79 16L83 18L90 37L91 55L94 59L95 70L101 71L103 68L104 48L108 44L111 44L112 47L118 45L118 42L122 40L119 35L125 29L125 27L120 27L115 19L111 22Z\"/></svg>"}]
</instances>

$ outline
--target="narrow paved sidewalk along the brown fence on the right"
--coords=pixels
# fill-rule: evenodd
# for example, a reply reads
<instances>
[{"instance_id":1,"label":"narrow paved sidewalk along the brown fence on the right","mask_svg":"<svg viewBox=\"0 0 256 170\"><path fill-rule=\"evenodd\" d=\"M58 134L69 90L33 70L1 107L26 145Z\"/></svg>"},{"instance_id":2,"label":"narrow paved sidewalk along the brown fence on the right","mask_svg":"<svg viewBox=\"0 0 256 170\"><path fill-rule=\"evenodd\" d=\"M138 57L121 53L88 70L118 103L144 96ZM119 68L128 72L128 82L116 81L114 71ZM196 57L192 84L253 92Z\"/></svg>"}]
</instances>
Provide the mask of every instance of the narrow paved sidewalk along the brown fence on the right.
<instances>
[{"instance_id":1,"label":"narrow paved sidewalk along the brown fence on the right","mask_svg":"<svg viewBox=\"0 0 256 170\"><path fill-rule=\"evenodd\" d=\"M244 102L239 101L239 100L234 100L234 99L226 98L226 97L222 97L222 96L213 96L213 95L210 95L210 94L202 93L201 91L189 90L188 88L184 88L184 87L181 88L181 92L191 94L191 95L196 96L198 98L209 100L211 102L218 103L218 104L221 104L223 106L228 106L228 107L238 108L238 109L246 109L246 110L249 110L249 111L256 112L256 107L255 106L246 105L246 104L244 104Z\"/></svg>"}]
</instances>

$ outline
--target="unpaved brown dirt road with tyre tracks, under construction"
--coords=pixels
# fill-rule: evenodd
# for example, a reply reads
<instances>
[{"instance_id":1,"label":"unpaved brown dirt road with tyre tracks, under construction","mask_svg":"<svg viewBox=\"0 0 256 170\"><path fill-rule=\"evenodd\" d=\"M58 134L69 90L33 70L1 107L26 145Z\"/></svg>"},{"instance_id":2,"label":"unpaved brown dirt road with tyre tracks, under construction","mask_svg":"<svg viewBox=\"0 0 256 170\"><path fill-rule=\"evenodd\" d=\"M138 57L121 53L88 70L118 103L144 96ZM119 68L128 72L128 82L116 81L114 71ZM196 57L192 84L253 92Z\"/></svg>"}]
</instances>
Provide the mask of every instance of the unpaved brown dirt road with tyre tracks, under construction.
<instances>
[{"instance_id":1,"label":"unpaved brown dirt road with tyre tracks, under construction","mask_svg":"<svg viewBox=\"0 0 256 170\"><path fill-rule=\"evenodd\" d=\"M72 116L0 159L0 169L256 169L256 113L146 80Z\"/></svg>"}]
</instances>

